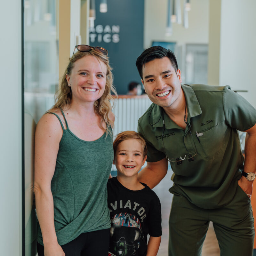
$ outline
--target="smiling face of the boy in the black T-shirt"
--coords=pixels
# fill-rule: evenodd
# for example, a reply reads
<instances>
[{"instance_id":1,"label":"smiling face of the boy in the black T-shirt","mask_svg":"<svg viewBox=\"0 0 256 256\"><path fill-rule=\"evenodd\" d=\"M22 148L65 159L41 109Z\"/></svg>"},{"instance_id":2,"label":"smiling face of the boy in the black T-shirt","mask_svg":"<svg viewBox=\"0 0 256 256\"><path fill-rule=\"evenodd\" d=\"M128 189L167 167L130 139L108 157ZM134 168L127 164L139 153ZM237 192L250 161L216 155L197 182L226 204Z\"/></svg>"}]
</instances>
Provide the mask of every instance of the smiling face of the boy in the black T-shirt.
<instances>
[{"instance_id":1,"label":"smiling face of the boy in the black T-shirt","mask_svg":"<svg viewBox=\"0 0 256 256\"><path fill-rule=\"evenodd\" d=\"M137 175L147 156L143 157L143 146L138 139L123 140L117 145L115 160L118 176Z\"/></svg>"}]
</instances>

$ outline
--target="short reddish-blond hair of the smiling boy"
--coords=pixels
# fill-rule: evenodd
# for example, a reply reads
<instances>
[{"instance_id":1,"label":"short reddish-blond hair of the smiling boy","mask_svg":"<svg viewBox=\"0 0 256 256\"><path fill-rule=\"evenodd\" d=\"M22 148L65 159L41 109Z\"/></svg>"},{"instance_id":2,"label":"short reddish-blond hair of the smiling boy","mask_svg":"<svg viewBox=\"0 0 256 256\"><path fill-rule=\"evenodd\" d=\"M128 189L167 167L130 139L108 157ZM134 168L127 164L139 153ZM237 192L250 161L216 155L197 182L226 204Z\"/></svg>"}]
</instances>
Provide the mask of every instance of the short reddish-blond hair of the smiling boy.
<instances>
[{"instance_id":1,"label":"short reddish-blond hair of the smiling boy","mask_svg":"<svg viewBox=\"0 0 256 256\"><path fill-rule=\"evenodd\" d=\"M120 132L116 135L116 139L113 142L113 148L114 148L114 156L116 155L116 148L117 146L124 140L130 140L130 139L137 139L140 141L142 147L143 147L143 158L147 156L147 145L144 138L141 136L140 133L134 132L134 131L124 131Z\"/></svg>"}]
</instances>

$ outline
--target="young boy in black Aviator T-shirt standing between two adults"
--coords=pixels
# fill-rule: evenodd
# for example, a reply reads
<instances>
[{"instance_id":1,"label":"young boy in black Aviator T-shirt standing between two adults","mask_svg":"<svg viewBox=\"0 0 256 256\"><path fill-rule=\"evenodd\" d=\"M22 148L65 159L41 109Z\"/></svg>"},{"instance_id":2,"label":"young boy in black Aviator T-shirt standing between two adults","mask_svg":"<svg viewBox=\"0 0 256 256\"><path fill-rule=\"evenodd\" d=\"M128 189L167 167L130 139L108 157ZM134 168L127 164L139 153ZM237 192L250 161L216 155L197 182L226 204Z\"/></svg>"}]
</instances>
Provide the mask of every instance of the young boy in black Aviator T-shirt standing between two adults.
<instances>
[{"instance_id":1,"label":"young boy in black Aviator T-shirt standing between two adults","mask_svg":"<svg viewBox=\"0 0 256 256\"><path fill-rule=\"evenodd\" d=\"M117 177L108 180L109 256L156 256L161 242L161 205L138 172L147 158L145 140L134 131L121 132L113 144ZM147 245L147 235L150 235Z\"/></svg>"}]
</instances>

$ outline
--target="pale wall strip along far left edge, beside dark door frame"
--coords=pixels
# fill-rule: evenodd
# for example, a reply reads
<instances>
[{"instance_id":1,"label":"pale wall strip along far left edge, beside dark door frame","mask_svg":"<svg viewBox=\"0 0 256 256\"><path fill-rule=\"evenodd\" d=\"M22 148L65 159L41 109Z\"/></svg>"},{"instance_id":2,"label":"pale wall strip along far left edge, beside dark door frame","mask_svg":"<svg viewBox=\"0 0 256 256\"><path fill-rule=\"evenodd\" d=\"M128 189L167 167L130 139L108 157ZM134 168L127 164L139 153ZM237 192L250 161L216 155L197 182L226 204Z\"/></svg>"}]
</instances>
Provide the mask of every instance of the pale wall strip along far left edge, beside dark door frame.
<instances>
[{"instance_id":1,"label":"pale wall strip along far left edge, beside dark door frame","mask_svg":"<svg viewBox=\"0 0 256 256\"><path fill-rule=\"evenodd\" d=\"M21 1L2 1L0 15L0 248L21 255Z\"/></svg>"}]
</instances>

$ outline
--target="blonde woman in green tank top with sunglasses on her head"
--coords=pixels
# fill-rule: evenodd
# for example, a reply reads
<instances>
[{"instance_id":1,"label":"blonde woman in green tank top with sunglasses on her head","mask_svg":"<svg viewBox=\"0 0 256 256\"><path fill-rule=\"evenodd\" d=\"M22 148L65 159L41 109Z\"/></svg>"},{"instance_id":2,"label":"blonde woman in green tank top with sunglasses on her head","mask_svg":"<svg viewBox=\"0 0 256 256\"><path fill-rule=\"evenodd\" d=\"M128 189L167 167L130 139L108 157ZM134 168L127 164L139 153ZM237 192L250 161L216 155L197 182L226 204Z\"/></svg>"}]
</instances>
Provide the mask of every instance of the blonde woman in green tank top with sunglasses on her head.
<instances>
[{"instance_id":1,"label":"blonde woman in green tank top with sunglasses on her head","mask_svg":"<svg viewBox=\"0 0 256 256\"><path fill-rule=\"evenodd\" d=\"M114 159L110 102L116 91L108 51L89 45L75 50L56 104L36 127L39 256L108 253L106 184Z\"/></svg>"}]
</instances>

